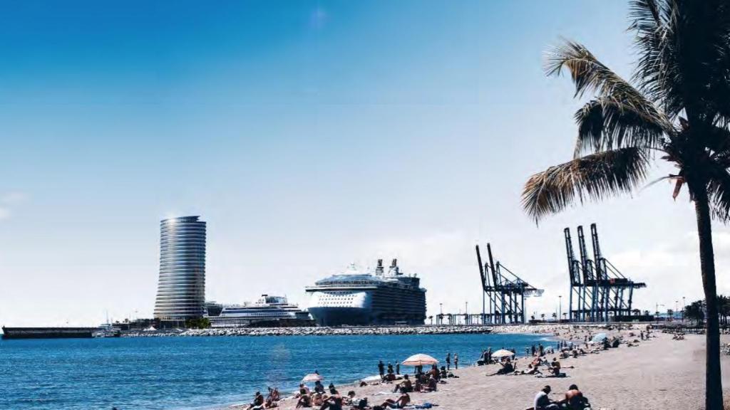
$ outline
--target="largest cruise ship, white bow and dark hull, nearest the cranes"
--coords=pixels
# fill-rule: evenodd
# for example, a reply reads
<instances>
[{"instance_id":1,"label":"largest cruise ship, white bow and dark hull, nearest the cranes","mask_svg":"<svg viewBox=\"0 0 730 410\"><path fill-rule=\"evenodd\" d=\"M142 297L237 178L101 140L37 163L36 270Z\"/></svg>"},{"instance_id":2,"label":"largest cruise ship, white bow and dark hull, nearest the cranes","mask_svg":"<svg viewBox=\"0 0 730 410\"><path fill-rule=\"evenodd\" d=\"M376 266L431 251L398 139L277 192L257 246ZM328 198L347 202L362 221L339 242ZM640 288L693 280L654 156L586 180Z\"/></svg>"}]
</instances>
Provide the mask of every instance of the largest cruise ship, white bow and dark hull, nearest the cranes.
<instances>
[{"instance_id":1,"label":"largest cruise ship, white bow and dark hull, nearest the cranes","mask_svg":"<svg viewBox=\"0 0 730 410\"><path fill-rule=\"evenodd\" d=\"M393 259L388 271L383 260L373 271L356 266L307 286L309 312L320 326L423 325L426 290L418 276L401 273Z\"/></svg>"}]
</instances>

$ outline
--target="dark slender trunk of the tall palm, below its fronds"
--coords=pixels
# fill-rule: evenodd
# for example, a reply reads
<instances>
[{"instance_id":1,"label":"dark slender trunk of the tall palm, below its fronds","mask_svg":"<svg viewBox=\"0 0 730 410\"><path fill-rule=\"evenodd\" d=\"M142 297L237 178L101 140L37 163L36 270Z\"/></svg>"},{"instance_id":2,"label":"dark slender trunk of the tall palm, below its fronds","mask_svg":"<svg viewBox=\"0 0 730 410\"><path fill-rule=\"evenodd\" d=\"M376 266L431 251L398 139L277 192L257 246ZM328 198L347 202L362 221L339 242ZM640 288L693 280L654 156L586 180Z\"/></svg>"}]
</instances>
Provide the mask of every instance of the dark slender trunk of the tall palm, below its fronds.
<instances>
[{"instance_id":1,"label":"dark slender trunk of the tall palm, below its fronds","mask_svg":"<svg viewBox=\"0 0 730 410\"><path fill-rule=\"evenodd\" d=\"M705 409L723 409L723 385L720 370L720 323L718 317L717 287L715 285L715 254L712 250L710 205L704 185L695 190L694 208L699 236L699 260L702 268L702 287L707 303L707 367L705 368Z\"/></svg>"}]
</instances>

